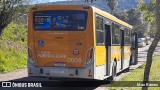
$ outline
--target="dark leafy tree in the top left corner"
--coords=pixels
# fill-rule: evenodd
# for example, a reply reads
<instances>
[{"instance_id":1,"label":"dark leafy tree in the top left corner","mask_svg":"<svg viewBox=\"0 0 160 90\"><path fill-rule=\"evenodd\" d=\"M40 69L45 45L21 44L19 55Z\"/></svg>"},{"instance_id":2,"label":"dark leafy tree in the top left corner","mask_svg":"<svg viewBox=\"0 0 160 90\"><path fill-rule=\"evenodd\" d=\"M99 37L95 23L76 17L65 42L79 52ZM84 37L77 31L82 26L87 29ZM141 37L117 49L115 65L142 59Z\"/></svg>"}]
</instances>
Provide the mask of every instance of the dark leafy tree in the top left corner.
<instances>
[{"instance_id":1,"label":"dark leafy tree in the top left corner","mask_svg":"<svg viewBox=\"0 0 160 90\"><path fill-rule=\"evenodd\" d=\"M21 14L26 13L27 5L38 0L0 0L0 37L5 27Z\"/></svg>"}]
</instances>

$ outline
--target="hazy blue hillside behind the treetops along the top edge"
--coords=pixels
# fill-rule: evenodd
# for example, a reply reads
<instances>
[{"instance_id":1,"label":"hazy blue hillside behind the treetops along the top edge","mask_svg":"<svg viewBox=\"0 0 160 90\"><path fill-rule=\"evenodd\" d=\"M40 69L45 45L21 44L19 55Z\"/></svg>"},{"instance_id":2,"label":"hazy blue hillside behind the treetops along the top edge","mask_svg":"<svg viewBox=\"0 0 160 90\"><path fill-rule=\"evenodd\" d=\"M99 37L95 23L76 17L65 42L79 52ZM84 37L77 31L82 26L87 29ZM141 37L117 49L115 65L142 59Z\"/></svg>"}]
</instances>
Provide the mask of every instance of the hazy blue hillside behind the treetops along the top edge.
<instances>
[{"instance_id":1,"label":"hazy blue hillside behind the treetops along the top edge","mask_svg":"<svg viewBox=\"0 0 160 90\"><path fill-rule=\"evenodd\" d=\"M145 0L146 3L149 3L150 0ZM58 2L50 2L45 3L47 5L92 5L97 8L100 8L104 11L108 11L108 6L106 0L94 1L93 3L85 3L83 0L69 0L69 1L58 1ZM131 8L137 8L138 2L137 0L119 0L118 1L118 10L126 10Z\"/></svg>"}]
</instances>

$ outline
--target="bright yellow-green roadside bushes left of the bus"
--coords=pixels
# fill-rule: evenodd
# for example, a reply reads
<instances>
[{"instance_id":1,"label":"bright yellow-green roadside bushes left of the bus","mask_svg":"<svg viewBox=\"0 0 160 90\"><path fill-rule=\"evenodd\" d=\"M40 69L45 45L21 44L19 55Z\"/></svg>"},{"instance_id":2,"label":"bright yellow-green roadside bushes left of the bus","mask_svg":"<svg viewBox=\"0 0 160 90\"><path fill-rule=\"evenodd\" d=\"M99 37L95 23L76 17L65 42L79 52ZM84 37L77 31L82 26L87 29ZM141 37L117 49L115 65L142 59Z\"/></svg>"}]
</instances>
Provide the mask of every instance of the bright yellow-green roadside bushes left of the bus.
<instances>
[{"instance_id":1,"label":"bright yellow-green roadside bushes left of the bus","mask_svg":"<svg viewBox=\"0 0 160 90\"><path fill-rule=\"evenodd\" d=\"M0 73L26 67L27 26L10 23L0 39Z\"/></svg>"}]
</instances>

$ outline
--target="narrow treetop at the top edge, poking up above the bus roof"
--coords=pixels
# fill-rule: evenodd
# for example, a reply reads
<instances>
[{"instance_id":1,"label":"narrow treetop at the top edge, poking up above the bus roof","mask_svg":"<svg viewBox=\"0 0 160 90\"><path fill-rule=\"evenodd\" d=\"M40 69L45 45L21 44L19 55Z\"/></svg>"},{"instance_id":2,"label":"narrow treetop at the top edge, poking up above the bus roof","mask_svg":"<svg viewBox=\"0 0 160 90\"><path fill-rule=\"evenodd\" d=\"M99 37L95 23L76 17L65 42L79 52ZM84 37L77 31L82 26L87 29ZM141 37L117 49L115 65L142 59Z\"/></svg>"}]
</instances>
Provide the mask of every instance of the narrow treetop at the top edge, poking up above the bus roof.
<instances>
[{"instance_id":1,"label":"narrow treetop at the top edge, poking up above the bus roof","mask_svg":"<svg viewBox=\"0 0 160 90\"><path fill-rule=\"evenodd\" d=\"M118 6L118 0L106 0L108 2L108 6L111 10L111 14L115 11Z\"/></svg>"}]
</instances>

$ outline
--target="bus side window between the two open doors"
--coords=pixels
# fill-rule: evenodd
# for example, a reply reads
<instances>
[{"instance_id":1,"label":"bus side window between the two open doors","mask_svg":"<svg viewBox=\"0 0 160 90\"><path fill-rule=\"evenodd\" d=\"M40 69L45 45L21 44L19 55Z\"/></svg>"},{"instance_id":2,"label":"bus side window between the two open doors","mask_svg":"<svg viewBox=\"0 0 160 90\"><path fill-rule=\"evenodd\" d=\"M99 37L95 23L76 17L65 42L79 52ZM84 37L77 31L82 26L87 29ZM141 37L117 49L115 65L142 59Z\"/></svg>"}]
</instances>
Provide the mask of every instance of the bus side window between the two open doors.
<instances>
[{"instance_id":1,"label":"bus side window between the two open doors","mask_svg":"<svg viewBox=\"0 0 160 90\"><path fill-rule=\"evenodd\" d=\"M112 44L120 45L120 29L114 23L112 23Z\"/></svg>"}]
</instances>

